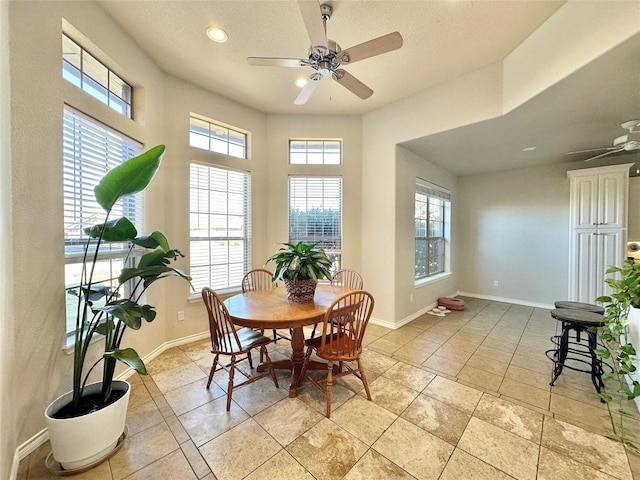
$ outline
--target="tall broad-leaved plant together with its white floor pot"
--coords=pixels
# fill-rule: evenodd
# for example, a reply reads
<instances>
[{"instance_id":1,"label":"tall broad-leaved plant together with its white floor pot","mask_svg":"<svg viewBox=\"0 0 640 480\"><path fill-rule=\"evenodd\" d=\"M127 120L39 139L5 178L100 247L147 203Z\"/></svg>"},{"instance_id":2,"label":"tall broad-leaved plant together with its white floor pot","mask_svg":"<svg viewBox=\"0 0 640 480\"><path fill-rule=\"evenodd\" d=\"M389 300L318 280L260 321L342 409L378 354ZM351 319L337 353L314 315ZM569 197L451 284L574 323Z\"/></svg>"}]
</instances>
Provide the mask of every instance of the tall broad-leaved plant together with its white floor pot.
<instances>
[{"instance_id":1,"label":"tall broad-leaved plant together with its white floor pot","mask_svg":"<svg viewBox=\"0 0 640 480\"><path fill-rule=\"evenodd\" d=\"M169 247L161 232L139 236L127 217L109 218L120 199L147 187L160 166L164 150L164 145L159 145L123 162L107 172L94 189L96 202L105 215L102 223L84 229L87 240L83 245L80 282L67 289L77 298L73 390L54 400L45 411L52 449L47 458L50 469L56 464L61 470L81 471L113 454L124 438L130 393L128 382L113 378L116 362L123 362L142 375L147 373L134 349L121 348L125 330L138 330L144 322L154 320L154 307L141 302L145 291L157 280L177 276L191 281L185 273L170 266L183 255ZM94 272L101 249L114 242L128 244L127 258L140 250L146 253L135 267L123 268L117 279L98 282L94 280ZM103 342L104 353L95 363L87 365L89 346L94 341ZM89 375L99 366L102 380L87 384Z\"/></svg>"}]
</instances>

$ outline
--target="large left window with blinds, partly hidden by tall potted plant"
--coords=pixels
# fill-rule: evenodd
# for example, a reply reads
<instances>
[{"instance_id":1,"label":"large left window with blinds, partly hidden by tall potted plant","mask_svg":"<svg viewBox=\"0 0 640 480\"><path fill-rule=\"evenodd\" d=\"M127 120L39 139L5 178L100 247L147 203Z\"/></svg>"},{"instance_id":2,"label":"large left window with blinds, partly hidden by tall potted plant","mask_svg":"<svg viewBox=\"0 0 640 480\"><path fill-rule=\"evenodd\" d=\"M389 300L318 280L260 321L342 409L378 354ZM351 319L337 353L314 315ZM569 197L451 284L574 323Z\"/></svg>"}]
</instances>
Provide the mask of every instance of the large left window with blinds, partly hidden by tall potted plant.
<instances>
[{"instance_id":1,"label":"large left window with blinds, partly hidden by tall potted plant","mask_svg":"<svg viewBox=\"0 0 640 480\"><path fill-rule=\"evenodd\" d=\"M65 107L63 126L63 192L65 284L80 282L83 245L87 240L83 229L105 219L105 212L96 202L93 188L113 167L138 155L141 145L134 140ZM121 200L113 209L112 219L127 216L142 229L142 196ZM102 256L97 281L117 278L123 265L127 245L108 244L101 248ZM75 328L77 298L67 295L67 332Z\"/></svg>"}]
</instances>

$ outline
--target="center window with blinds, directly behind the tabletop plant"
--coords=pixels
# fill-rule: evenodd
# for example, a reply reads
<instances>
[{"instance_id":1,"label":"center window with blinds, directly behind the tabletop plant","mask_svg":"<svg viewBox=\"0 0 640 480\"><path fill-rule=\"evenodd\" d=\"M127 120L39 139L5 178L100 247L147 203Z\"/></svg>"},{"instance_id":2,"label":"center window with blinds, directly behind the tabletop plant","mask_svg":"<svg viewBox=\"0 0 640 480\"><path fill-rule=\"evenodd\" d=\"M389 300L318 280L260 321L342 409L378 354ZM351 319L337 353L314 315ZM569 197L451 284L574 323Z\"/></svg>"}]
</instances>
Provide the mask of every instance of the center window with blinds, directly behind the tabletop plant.
<instances>
[{"instance_id":1,"label":"center window with blinds, directly behind the tabletop plant","mask_svg":"<svg viewBox=\"0 0 640 480\"><path fill-rule=\"evenodd\" d=\"M333 268L342 255L342 178L289 177L289 242L315 243Z\"/></svg>"}]
</instances>

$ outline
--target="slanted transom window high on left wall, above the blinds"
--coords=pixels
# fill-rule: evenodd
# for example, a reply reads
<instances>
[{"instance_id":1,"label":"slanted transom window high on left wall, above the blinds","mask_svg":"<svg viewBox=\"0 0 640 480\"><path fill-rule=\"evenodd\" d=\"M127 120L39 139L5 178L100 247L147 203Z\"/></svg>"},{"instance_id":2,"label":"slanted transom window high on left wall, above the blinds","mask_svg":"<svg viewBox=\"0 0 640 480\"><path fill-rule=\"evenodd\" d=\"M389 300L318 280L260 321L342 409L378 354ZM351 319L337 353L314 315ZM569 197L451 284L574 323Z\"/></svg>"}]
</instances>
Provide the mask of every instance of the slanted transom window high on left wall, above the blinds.
<instances>
[{"instance_id":1,"label":"slanted transom window high on left wall, above the blinds","mask_svg":"<svg viewBox=\"0 0 640 480\"><path fill-rule=\"evenodd\" d=\"M62 34L62 78L131 118L132 88L76 42Z\"/></svg>"}]
</instances>

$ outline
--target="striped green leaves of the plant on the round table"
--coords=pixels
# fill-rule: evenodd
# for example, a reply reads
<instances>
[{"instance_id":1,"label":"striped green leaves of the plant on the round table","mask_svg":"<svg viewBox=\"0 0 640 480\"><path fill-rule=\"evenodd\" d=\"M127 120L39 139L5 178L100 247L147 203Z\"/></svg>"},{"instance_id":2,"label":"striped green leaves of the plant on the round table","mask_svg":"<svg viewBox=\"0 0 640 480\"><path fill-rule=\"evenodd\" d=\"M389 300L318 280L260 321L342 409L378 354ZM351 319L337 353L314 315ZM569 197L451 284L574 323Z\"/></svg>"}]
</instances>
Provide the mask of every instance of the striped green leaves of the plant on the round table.
<instances>
[{"instance_id":1,"label":"striped green leaves of the plant on the round table","mask_svg":"<svg viewBox=\"0 0 640 480\"><path fill-rule=\"evenodd\" d=\"M319 243L282 243L284 246L266 261L276 264L273 281L285 278L292 282L308 278L315 282L323 278L331 280L331 260L323 249L316 248Z\"/></svg>"}]
</instances>

